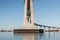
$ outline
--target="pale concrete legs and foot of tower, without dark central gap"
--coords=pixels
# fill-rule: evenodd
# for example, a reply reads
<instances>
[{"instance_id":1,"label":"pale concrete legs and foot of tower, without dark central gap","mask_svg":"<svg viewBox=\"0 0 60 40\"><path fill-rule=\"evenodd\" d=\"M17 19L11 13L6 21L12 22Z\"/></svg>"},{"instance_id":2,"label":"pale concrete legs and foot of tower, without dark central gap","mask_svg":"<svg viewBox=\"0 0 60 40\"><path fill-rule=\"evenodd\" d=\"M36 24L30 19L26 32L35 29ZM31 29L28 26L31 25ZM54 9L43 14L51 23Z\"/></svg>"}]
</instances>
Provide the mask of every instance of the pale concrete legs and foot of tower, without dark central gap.
<instances>
[{"instance_id":1,"label":"pale concrete legs and foot of tower, without dark central gap","mask_svg":"<svg viewBox=\"0 0 60 40\"><path fill-rule=\"evenodd\" d=\"M28 4L28 1L30 2L30 14L31 14L31 17L30 17L30 19L31 19L31 26L29 27L29 22L27 21L28 20L28 16L27 16L27 8L28 8L28 6L27 6L27 4ZM23 25L23 28L24 29L34 29L35 27L34 27L34 14L33 14L33 3L32 3L32 0L25 0L25 3L24 3L24 25Z\"/></svg>"}]
</instances>

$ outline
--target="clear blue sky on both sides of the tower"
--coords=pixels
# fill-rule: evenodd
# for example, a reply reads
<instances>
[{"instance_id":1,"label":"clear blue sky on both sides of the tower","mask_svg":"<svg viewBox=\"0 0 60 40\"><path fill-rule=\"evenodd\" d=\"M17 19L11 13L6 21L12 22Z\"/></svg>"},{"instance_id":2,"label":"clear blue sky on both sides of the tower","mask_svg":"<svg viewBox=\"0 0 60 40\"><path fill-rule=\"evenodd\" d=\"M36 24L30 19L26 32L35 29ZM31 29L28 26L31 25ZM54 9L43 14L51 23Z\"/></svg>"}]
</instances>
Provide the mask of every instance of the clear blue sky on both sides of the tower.
<instances>
[{"instance_id":1,"label":"clear blue sky on both sides of the tower","mask_svg":"<svg viewBox=\"0 0 60 40\"><path fill-rule=\"evenodd\" d=\"M33 0L34 21L60 27L60 0ZM0 29L23 27L24 0L0 0Z\"/></svg>"}]
</instances>

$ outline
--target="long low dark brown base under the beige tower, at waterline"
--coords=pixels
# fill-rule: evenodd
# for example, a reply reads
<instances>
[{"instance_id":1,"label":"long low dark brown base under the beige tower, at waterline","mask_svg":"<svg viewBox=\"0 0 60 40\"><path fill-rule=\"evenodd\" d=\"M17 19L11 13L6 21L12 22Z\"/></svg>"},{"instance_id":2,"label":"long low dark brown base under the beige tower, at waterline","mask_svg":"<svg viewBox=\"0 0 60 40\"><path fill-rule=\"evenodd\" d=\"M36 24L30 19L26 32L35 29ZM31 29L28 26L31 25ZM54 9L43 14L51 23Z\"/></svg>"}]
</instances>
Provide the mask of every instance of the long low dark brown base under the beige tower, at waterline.
<instances>
[{"instance_id":1,"label":"long low dark brown base under the beige tower, at waterline","mask_svg":"<svg viewBox=\"0 0 60 40\"><path fill-rule=\"evenodd\" d=\"M14 33L44 33L44 29L14 29Z\"/></svg>"}]
</instances>

